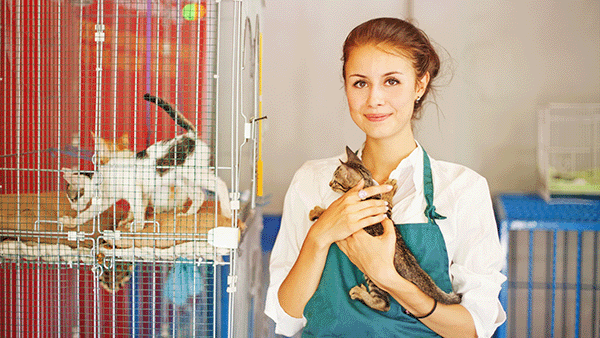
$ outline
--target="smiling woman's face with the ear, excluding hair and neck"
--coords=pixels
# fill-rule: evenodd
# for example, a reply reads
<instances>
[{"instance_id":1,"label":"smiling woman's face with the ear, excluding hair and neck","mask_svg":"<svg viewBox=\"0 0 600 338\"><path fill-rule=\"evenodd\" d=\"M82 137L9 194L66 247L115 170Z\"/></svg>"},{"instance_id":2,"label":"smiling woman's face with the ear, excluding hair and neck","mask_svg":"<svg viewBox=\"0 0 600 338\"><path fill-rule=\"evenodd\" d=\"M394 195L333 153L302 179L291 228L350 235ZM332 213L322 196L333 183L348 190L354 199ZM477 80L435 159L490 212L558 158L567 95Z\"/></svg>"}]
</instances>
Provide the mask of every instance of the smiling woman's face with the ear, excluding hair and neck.
<instances>
[{"instance_id":1,"label":"smiling woman's face with the ear, excluding hair and neck","mask_svg":"<svg viewBox=\"0 0 600 338\"><path fill-rule=\"evenodd\" d=\"M365 45L350 53L344 80L350 115L367 139L413 140L414 102L428 74L417 82L409 59Z\"/></svg>"}]
</instances>

